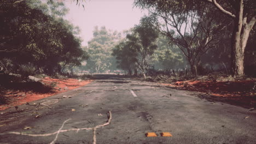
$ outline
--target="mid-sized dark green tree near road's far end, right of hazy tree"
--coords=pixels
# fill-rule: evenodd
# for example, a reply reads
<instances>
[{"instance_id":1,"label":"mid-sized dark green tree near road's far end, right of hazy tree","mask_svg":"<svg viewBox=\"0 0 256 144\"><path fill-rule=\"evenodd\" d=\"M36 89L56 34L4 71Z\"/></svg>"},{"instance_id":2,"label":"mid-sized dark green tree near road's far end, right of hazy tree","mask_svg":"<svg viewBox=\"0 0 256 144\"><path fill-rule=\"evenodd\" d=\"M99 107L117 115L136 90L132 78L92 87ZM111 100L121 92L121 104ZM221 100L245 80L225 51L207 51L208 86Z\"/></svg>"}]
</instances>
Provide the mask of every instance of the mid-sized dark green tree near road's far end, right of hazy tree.
<instances>
[{"instance_id":1,"label":"mid-sized dark green tree near road's far end, right of hazy tree","mask_svg":"<svg viewBox=\"0 0 256 144\"><path fill-rule=\"evenodd\" d=\"M129 58L131 64L127 64L126 67L130 69L130 66L136 65L146 78L146 71L150 67L149 59L157 48L155 43L157 38L158 32L152 29L146 17L143 17L139 25L133 27L131 33L126 35L126 40L116 47L117 51L114 51L114 55L121 58L119 64L122 65L129 63L124 60L124 58ZM124 56L126 52L127 55ZM133 64L133 62L136 64ZM124 66L122 67L124 68Z\"/></svg>"}]
</instances>

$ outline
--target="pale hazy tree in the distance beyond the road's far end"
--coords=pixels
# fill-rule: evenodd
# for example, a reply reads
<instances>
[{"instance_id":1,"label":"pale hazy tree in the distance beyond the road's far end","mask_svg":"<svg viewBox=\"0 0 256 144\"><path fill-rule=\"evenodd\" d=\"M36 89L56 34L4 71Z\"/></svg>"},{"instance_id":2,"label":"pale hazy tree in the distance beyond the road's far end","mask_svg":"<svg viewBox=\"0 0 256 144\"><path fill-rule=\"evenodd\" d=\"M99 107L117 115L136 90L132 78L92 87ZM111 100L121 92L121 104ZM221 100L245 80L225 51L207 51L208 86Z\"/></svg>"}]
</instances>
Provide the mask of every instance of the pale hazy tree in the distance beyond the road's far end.
<instances>
[{"instance_id":1,"label":"pale hazy tree in the distance beyond the road's far end","mask_svg":"<svg viewBox=\"0 0 256 144\"><path fill-rule=\"evenodd\" d=\"M113 71L117 68L115 57L111 55L112 49L120 39L120 33L107 30L106 27L95 27L94 38L88 42L90 55L86 68L91 72Z\"/></svg>"}]
</instances>

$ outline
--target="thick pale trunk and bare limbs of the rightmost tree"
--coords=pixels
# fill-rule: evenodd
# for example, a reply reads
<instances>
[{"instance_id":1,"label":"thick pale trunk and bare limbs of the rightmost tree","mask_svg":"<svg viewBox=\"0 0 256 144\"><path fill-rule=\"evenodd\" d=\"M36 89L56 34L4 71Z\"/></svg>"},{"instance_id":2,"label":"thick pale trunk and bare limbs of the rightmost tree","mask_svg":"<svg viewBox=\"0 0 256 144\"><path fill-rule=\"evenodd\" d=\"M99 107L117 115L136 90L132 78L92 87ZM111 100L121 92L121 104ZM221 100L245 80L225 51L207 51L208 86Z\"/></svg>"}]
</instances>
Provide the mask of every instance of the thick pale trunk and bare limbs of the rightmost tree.
<instances>
[{"instance_id":1,"label":"thick pale trunk and bare limbs of the rightmost tree","mask_svg":"<svg viewBox=\"0 0 256 144\"><path fill-rule=\"evenodd\" d=\"M256 22L255 13L245 13L243 14L243 0L236 0L235 5L238 7L235 8L235 14L230 13L223 9L216 0L207 0L213 3L220 11L234 18L234 31L232 33L232 41L231 41L231 68L232 74L234 77L242 76L245 74L244 72L244 57L245 57L245 47L247 44L247 40L249 37L249 33L251 32L254 23ZM248 10L245 10L245 12ZM252 15L251 20L247 19Z\"/></svg>"}]
</instances>

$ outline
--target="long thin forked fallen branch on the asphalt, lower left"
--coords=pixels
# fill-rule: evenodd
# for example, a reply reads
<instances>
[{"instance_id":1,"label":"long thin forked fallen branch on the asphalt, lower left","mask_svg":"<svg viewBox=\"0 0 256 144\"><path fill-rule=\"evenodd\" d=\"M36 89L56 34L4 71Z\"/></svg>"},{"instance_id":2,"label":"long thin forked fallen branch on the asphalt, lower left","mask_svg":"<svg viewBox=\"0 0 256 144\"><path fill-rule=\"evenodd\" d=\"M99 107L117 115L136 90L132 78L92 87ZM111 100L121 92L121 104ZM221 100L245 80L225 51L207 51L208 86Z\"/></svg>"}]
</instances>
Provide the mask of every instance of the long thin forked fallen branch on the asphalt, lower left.
<instances>
[{"instance_id":1,"label":"long thin forked fallen branch on the asphalt, lower left","mask_svg":"<svg viewBox=\"0 0 256 144\"><path fill-rule=\"evenodd\" d=\"M65 129L65 130L62 130L63 128L63 125L69 121L70 119L67 119L65 122L63 122L61 128L58 130L58 131L55 131L54 133L48 133L48 134L27 134L27 133L22 133L22 132L16 132L16 131L11 131L9 133L0 133L0 135L5 135L5 134L15 134L15 135L26 135L26 136L32 136L32 137L38 137L38 136L50 136L50 135L55 135L56 134L56 137L55 139L50 143L50 144L54 144L54 142L57 140L57 136L59 135L59 133L64 133L64 132L67 132L67 131L78 131L79 130L94 130L93 133L94 133L94 144L96 144L96 129L97 128L101 128L101 127L104 127L106 125L108 125L110 122L111 122L111 119L112 119L112 113L111 111L108 112L109 113L109 117L108 117L108 121L107 123L104 123L104 124L101 124L101 125L96 125L96 127L92 127L92 128L74 128L74 129Z\"/></svg>"}]
</instances>

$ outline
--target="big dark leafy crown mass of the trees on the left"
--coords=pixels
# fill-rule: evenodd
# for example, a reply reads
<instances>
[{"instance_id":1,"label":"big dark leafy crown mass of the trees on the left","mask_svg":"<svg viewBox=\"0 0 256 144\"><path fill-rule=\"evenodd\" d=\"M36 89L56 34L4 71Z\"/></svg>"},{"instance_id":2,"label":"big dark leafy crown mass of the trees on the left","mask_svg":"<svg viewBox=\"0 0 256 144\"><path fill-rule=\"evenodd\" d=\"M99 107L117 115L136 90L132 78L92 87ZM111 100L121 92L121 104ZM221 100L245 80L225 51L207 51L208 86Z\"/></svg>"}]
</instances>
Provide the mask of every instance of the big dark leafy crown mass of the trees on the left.
<instances>
[{"instance_id":1,"label":"big dark leafy crown mass of the trees on the left","mask_svg":"<svg viewBox=\"0 0 256 144\"><path fill-rule=\"evenodd\" d=\"M29 63L37 73L53 75L88 58L75 36L77 28L62 19L68 11L63 3L28 0L0 3L0 8L0 64L5 71Z\"/></svg>"}]
</instances>

